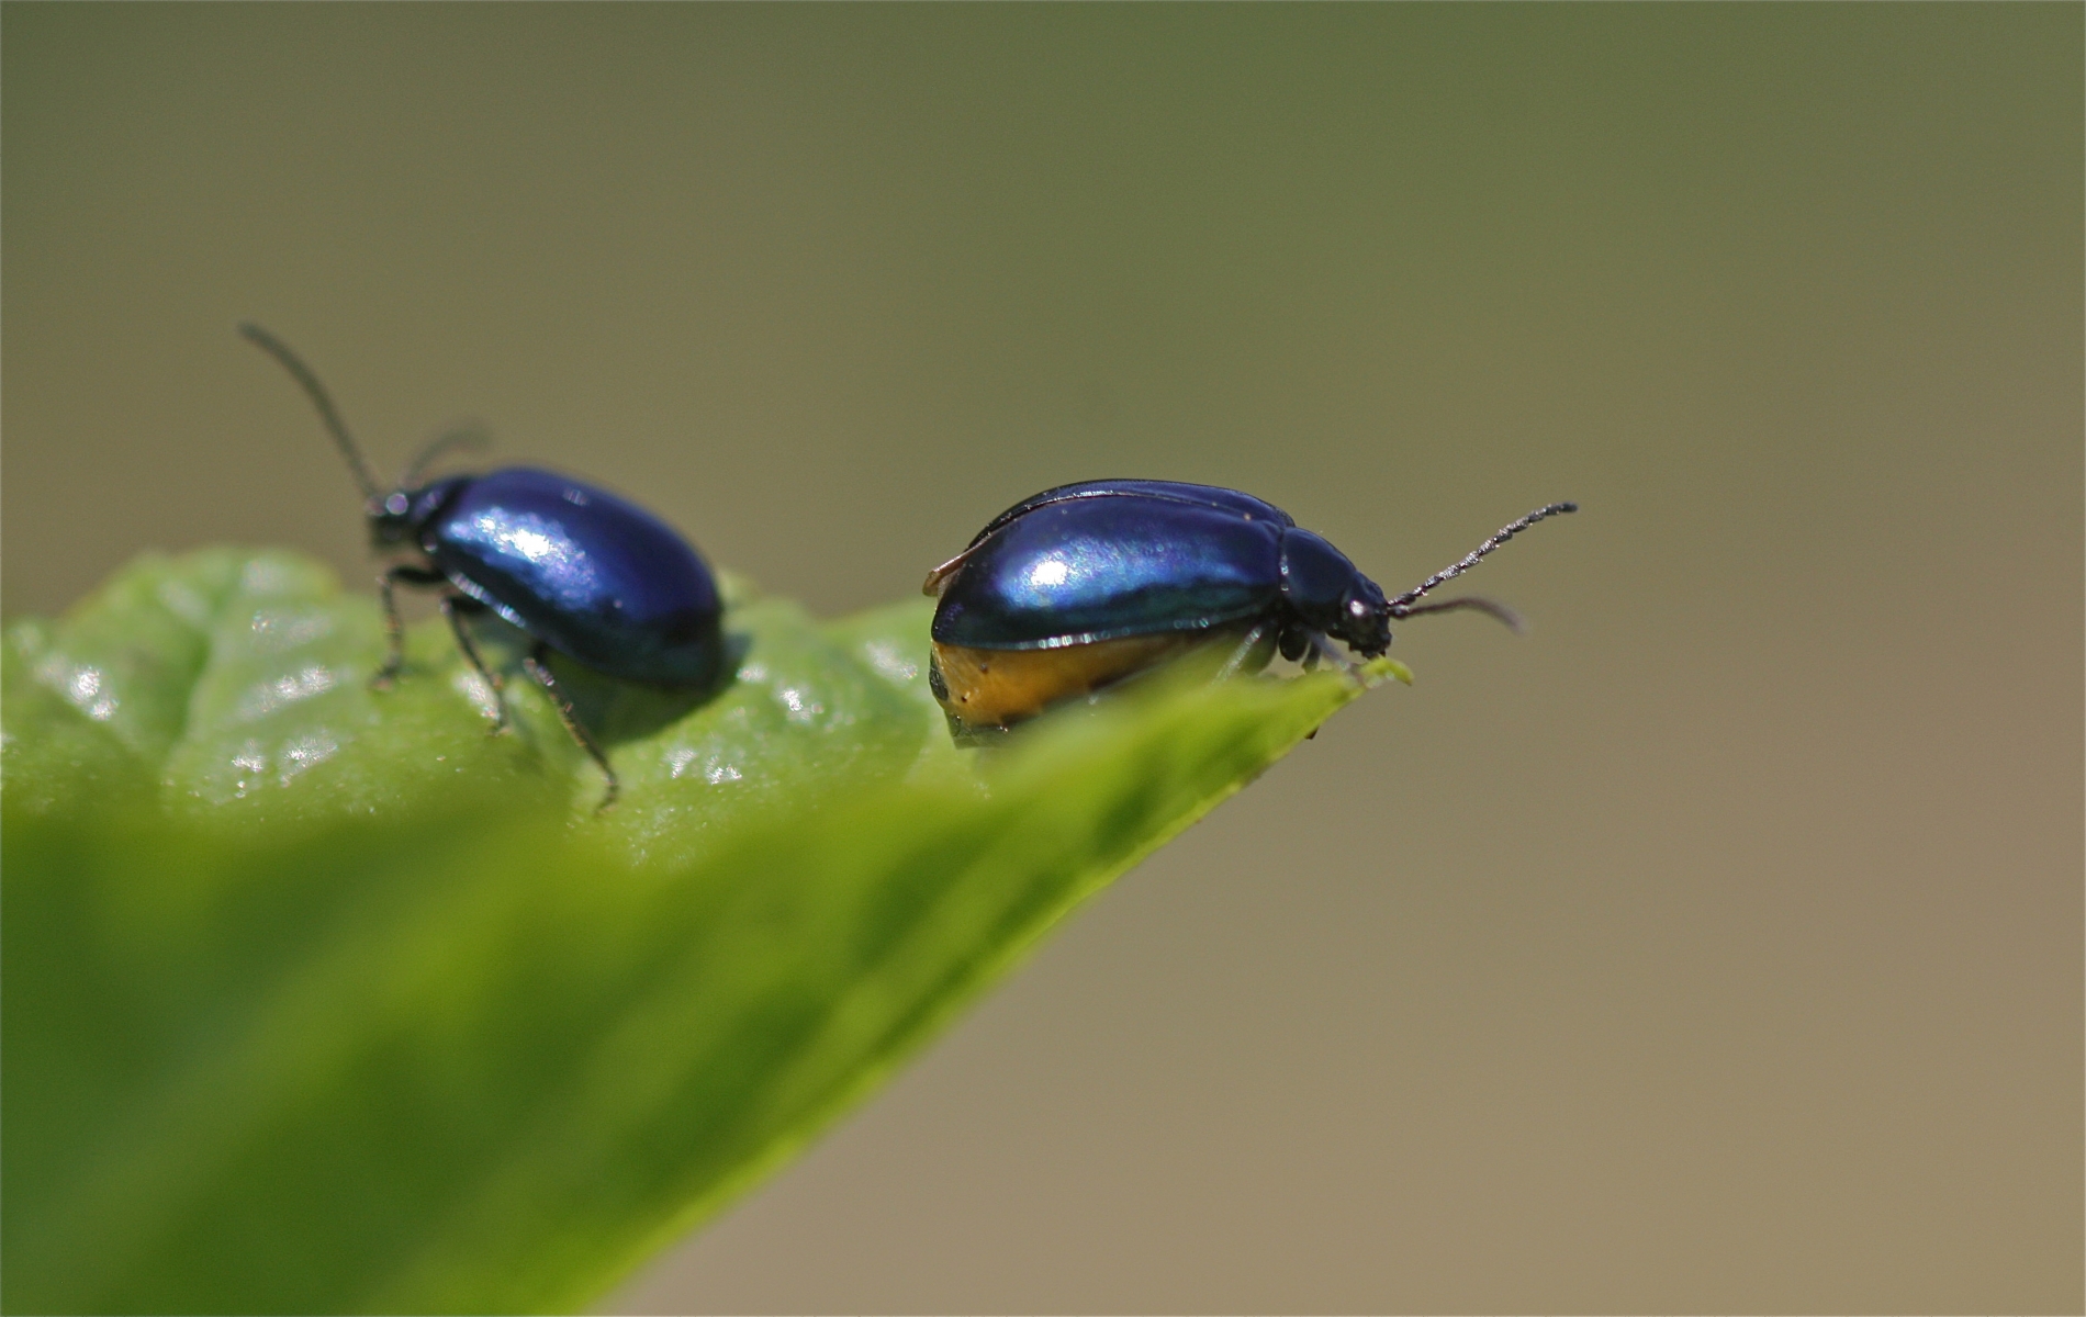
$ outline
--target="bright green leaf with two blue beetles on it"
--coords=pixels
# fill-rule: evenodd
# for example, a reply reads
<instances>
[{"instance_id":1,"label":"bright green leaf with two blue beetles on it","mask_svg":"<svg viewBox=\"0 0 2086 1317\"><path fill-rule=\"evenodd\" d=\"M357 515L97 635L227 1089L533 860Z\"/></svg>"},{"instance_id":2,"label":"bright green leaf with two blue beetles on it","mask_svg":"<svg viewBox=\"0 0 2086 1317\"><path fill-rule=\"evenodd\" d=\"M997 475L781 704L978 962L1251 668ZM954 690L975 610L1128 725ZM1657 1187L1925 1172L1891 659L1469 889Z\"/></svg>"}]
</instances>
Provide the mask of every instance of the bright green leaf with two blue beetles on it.
<instances>
[{"instance_id":1,"label":"bright green leaf with two blue beetles on it","mask_svg":"<svg viewBox=\"0 0 2086 1317\"><path fill-rule=\"evenodd\" d=\"M561 669L601 815L540 692L488 736L440 623L371 692L290 554L13 627L0 1302L582 1307L1358 692L1177 665L957 750L926 600L728 600L707 702Z\"/></svg>"}]
</instances>

